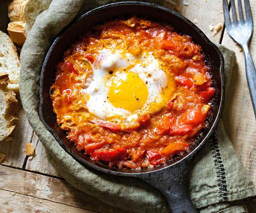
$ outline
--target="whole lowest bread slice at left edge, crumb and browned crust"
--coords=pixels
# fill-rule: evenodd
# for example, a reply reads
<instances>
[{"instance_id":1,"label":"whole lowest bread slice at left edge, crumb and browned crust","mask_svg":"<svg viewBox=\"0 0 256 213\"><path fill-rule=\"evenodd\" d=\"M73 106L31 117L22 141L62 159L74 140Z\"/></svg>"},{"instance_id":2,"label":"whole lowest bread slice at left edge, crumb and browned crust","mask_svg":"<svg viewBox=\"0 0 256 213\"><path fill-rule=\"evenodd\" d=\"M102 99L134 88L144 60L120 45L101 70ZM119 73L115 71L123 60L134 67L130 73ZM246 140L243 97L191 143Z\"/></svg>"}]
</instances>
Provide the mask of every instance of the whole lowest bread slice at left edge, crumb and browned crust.
<instances>
[{"instance_id":1,"label":"whole lowest bread slice at left edge, crumb and browned crust","mask_svg":"<svg viewBox=\"0 0 256 213\"><path fill-rule=\"evenodd\" d=\"M7 88L10 80L8 74L0 74L0 141L11 134L18 118L18 101L15 93Z\"/></svg>"}]
</instances>

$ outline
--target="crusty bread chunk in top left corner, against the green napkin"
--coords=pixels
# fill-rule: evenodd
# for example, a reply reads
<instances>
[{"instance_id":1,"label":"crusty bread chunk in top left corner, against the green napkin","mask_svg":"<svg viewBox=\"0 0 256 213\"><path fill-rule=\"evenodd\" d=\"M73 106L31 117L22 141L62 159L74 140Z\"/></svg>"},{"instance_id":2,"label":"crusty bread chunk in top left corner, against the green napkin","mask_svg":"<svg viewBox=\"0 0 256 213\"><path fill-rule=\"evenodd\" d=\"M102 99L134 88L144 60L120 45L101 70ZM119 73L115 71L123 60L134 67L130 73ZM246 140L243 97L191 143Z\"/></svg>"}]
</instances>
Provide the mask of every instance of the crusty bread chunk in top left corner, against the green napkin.
<instances>
[{"instance_id":1,"label":"crusty bread chunk in top left corner, against the green napkin","mask_svg":"<svg viewBox=\"0 0 256 213\"><path fill-rule=\"evenodd\" d=\"M51 0L13 0L8 5L9 35L15 45L22 47L36 17L48 9ZM25 38L25 39L24 39Z\"/></svg>"}]
</instances>

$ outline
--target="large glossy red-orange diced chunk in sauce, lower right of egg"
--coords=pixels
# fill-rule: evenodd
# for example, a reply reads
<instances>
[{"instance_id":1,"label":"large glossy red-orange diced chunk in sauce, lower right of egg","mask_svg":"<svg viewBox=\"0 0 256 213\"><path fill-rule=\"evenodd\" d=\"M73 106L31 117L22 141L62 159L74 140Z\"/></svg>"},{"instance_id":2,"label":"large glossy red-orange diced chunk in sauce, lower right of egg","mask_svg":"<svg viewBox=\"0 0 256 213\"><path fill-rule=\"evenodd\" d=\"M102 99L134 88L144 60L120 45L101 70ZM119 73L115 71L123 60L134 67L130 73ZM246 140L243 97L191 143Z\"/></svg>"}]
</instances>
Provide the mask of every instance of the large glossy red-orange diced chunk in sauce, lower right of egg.
<instances>
[{"instance_id":1,"label":"large glossy red-orange diced chunk in sauce, lower right of egg","mask_svg":"<svg viewBox=\"0 0 256 213\"><path fill-rule=\"evenodd\" d=\"M188 109L184 112L178 120L178 124L184 125L189 124L192 126L197 126L203 122L205 115L198 109Z\"/></svg>"}]
</instances>

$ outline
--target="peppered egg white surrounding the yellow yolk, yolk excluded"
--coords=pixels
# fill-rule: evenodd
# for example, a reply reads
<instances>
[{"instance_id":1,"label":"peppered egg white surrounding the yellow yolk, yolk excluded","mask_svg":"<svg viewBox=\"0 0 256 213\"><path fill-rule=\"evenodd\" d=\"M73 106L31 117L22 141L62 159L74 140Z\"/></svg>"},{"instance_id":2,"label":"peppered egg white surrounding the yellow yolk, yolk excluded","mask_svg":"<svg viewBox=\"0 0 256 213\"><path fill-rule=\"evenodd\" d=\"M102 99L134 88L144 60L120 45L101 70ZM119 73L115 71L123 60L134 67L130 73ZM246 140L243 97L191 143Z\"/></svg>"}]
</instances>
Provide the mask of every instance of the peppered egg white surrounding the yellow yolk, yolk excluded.
<instances>
[{"instance_id":1,"label":"peppered egg white surrounding the yellow yolk, yolk excluded","mask_svg":"<svg viewBox=\"0 0 256 213\"><path fill-rule=\"evenodd\" d=\"M161 91L168 83L166 73L160 68L160 63L152 53L145 52L138 57L119 50L111 52L108 49L99 51L98 59L92 65L93 76L90 85L82 92L89 95L86 107L88 112L102 120L121 122L136 122L138 116L144 113L154 113L152 104L162 101ZM110 74L110 73L112 74ZM148 97L143 108L134 112L114 107L108 92L114 78L125 80L127 72L137 73L148 89ZM129 103L127 103L129 104ZM152 110L153 109L153 110ZM160 109L157 109L159 111Z\"/></svg>"}]
</instances>

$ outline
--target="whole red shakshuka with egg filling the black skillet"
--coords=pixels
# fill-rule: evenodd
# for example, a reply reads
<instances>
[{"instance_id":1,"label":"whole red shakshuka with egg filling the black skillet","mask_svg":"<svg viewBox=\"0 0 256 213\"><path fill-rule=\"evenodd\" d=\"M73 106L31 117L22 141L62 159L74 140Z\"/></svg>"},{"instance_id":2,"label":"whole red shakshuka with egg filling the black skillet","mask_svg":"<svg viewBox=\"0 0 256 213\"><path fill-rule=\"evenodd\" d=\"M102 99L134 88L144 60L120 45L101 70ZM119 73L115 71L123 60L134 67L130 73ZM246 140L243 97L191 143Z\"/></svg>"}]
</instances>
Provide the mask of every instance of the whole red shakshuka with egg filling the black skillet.
<instances>
[{"instance_id":1,"label":"whole red shakshuka with egg filling the black skillet","mask_svg":"<svg viewBox=\"0 0 256 213\"><path fill-rule=\"evenodd\" d=\"M82 35L64 52L50 89L67 138L119 168L154 167L188 153L215 92L192 39L137 17Z\"/></svg>"}]
</instances>

